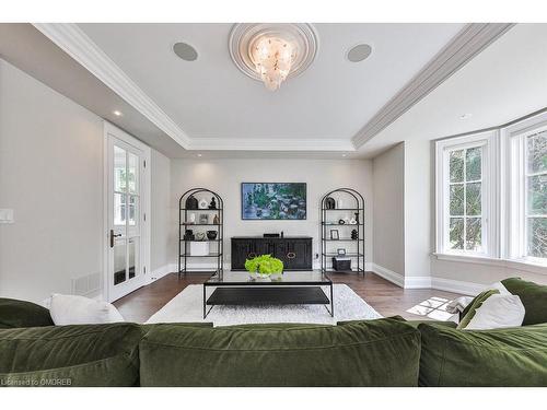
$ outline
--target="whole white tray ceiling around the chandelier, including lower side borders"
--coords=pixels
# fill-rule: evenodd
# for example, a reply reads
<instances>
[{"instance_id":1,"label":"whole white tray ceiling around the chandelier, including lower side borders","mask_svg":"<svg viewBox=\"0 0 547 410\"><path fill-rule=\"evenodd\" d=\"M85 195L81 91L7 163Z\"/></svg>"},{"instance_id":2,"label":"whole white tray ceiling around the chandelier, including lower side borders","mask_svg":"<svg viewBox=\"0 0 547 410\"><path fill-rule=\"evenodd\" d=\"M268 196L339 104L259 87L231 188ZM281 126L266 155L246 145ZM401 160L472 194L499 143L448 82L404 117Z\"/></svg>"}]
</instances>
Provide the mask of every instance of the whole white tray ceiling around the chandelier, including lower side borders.
<instances>
[{"instance_id":1,"label":"whole white tray ceiling around the chandelier, including lower side borders","mask_svg":"<svg viewBox=\"0 0 547 410\"><path fill-rule=\"evenodd\" d=\"M517 24L356 151L351 137L372 116L384 114L385 108L379 109L407 89L409 77L422 69L461 26L316 26L321 37L317 60L276 93L233 66L228 51L230 24L81 25L91 36L112 39L96 49L93 43L92 47L73 44L83 55L108 52L124 70L106 67L106 77L85 63L94 60L75 58L59 46L62 42L49 35L47 38L28 24L0 24L0 58L170 157L195 157L196 150L203 157L373 157L400 141L432 140L499 126L547 107L547 24ZM412 31L416 35L410 34ZM428 38L424 31L442 32L443 40L433 34ZM147 36L146 32L152 34ZM73 31L66 32L65 39L73 37ZM156 44L156 37L165 37L165 42ZM98 44L97 38L94 40ZM197 47L200 57L196 62L185 62L172 54L171 46L178 40ZM372 44L375 51L362 63L350 63L344 54L359 42ZM395 51L381 52L389 43L397 50L405 44L403 54L421 47L422 55L406 54L404 61ZM108 50L123 50L125 44L127 52L114 55ZM218 72L213 70L217 67L221 68ZM120 73L127 74L126 80L132 80L135 87L120 80ZM116 80L114 86L105 81L109 78ZM116 82L137 91L129 95L137 98L126 98L124 87L116 89ZM142 104L136 104L136 99ZM115 117L114 109L120 109L124 116ZM461 120L466 113L473 116Z\"/></svg>"}]
</instances>

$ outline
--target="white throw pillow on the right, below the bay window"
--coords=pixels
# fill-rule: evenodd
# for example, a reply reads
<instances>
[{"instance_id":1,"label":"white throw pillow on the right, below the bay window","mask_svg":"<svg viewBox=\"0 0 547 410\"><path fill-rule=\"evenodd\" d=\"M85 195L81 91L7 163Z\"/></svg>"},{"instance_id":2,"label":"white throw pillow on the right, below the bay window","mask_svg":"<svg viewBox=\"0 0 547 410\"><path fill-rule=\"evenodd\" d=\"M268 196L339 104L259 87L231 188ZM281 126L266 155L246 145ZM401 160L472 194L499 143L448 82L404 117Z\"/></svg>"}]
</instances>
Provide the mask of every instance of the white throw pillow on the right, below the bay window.
<instances>
[{"instance_id":1,"label":"white throw pillow on the right, below the bay window","mask_svg":"<svg viewBox=\"0 0 547 410\"><path fill-rule=\"evenodd\" d=\"M464 330L517 327L522 325L524 314L524 305L519 296L494 294L482 302Z\"/></svg>"}]
</instances>

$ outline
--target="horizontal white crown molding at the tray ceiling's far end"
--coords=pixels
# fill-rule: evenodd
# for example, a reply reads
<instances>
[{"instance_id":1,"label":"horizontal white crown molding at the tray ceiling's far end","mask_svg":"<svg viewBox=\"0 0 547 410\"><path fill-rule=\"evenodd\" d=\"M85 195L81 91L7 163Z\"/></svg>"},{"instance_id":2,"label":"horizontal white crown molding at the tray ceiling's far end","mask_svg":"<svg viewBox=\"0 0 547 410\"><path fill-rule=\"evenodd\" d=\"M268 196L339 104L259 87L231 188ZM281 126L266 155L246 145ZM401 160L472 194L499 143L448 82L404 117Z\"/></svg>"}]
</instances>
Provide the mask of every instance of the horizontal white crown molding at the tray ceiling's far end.
<instances>
[{"instance_id":1,"label":"horizontal white crown molding at the tray ceiling's far end","mask_svg":"<svg viewBox=\"0 0 547 410\"><path fill-rule=\"evenodd\" d=\"M189 150L354 152L356 148L350 140L336 139L194 137Z\"/></svg>"}]
</instances>

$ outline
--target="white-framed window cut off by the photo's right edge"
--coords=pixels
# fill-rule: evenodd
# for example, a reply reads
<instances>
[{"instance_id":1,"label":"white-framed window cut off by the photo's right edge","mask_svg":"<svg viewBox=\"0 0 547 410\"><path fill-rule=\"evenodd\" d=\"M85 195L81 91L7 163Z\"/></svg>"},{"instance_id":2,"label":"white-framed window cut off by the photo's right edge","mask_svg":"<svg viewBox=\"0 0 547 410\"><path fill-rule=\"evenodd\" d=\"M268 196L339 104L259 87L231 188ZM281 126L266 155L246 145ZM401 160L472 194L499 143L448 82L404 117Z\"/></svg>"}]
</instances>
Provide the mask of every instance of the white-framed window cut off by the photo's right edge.
<instances>
[{"instance_id":1,"label":"white-framed window cut off by the photo's right edge","mask_svg":"<svg viewBox=\"0 0 547 410\"><path fill-rule=\"evenodd\" d=\"M547 116L504 130L510 181L507 259L547 265Z\"/></svg>"}]
</instances>

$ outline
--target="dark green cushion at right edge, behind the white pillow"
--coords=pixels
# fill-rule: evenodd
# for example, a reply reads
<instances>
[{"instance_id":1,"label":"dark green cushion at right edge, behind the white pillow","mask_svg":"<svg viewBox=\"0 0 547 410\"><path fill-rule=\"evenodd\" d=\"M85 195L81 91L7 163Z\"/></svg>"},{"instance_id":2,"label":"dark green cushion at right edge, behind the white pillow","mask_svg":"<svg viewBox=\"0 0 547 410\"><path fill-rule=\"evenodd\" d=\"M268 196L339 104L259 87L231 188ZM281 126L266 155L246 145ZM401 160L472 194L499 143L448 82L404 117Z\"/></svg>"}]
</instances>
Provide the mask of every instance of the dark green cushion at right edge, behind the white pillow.
<instances>
[{"instance_id":1,"label":"dark green cushion at right edge, behind the white pillow","mask_svg":"<svg viewBox=\"0 0 547 410\"><path fill-rule=\"evenodd\" d=\"M547 286L509 278L501 281L509 292L521 297L526 309L523 326L547 324Z\"/></svg>"}]
</instances>

